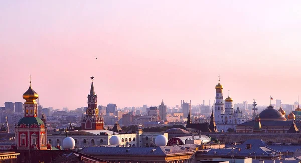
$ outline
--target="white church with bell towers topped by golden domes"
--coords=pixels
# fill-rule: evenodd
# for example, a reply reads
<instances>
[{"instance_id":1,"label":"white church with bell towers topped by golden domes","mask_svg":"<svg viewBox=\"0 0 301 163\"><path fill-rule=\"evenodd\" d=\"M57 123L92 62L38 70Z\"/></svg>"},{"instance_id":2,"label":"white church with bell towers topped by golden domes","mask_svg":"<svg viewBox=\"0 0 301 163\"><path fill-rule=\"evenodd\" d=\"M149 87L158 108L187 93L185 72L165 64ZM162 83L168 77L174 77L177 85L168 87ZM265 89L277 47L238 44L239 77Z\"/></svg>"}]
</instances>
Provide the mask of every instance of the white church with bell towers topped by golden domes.
<instances>
[{"instance_id":1,"label":"white church with bell towers topped by golden domes","mask_svg":"<svg viewBox=\"0 0 301 163\"><path fill-rule=\"evenodd\" d=\"M230 91L224 101L223 86L220 84L220 79L218 79L218 84L215 86L214 118L219 132L227 132L228 129L235 130L237 124L246 122L246 118L243 117L239 107L236 110L233 109L233 99L230 97Z\"/></svg>"}]
</instances>

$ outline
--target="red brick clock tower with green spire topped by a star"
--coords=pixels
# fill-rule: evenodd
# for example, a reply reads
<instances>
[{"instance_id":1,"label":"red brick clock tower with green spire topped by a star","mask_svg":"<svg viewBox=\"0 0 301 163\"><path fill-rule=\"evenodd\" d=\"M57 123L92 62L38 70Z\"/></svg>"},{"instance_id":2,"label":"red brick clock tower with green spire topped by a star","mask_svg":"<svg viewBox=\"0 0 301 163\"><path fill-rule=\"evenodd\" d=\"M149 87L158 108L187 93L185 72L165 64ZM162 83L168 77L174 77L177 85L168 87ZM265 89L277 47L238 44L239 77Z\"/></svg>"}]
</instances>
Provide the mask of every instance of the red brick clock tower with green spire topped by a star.
<instances>
[{"instance_id":1,"label":"red brick clock tower with green spire topped by a star","mask_svg":"<svg viewBox=\"0 0 301 163\"><path fill-rule=\"evenodd\" d=\"M103 129L103 118L99 116L99 110L97 108L97 95L94 91L93 85L94 77L91 77L91 89L88 95L88 108L86 115L82 119L82 130L97 130Z\"/></svg>"}]
</instances>

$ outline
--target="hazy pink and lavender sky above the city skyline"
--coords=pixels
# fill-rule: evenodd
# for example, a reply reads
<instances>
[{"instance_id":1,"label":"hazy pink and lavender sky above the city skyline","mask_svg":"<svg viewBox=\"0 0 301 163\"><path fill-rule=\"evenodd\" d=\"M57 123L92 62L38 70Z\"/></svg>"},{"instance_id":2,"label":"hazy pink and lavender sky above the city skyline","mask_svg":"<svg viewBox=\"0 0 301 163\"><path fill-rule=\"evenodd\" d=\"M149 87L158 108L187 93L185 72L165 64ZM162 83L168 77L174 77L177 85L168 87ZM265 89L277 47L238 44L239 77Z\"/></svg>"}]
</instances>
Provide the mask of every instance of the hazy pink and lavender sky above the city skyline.
<instances>
[{"instance_id":1,"label":"hazy pink and lavender sky above the city skyline","mask_svg":"<svg viewBox=\"0 0 301 163\"><path fill-rule=\"evenodd\" d=\"M87 106L92 75L118 107L212 104L218 75L234 103L300 94L300 0L2 0L0 15L0 106L25 101L29 74L54 108Z\"/></svg>"}]
</instances>

